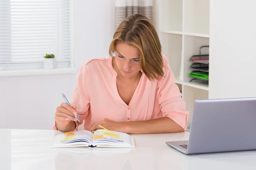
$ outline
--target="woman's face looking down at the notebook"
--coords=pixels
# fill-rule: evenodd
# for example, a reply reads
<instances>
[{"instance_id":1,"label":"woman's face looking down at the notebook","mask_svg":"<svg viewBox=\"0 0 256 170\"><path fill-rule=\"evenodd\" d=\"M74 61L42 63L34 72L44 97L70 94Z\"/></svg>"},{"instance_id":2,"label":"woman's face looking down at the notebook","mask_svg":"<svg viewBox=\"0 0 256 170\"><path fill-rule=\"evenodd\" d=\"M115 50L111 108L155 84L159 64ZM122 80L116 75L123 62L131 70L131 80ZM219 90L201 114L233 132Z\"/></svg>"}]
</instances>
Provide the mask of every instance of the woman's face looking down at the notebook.
<instances>
[{"instance_id":1,"label":"woman's face looking down at the notebook","mask_svg":"<svg viewBox=\"0 0 256 170\"><path fill-rule=\"evenodd\" d=\"M140 51L126 43L116 45L116 65L122 76L133 77L140 70Z\"/></svg>"}]
</instances>

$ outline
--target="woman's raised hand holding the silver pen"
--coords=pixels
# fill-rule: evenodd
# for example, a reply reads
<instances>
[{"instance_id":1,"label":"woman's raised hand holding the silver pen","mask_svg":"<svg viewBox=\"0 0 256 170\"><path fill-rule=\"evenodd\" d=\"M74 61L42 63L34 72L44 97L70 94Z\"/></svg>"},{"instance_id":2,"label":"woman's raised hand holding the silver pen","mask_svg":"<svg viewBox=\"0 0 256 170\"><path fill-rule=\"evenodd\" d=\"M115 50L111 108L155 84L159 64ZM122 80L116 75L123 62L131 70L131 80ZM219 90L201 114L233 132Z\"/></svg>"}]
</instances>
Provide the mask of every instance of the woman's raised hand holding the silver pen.
<instances>
[{"instance_id":1,"label":"woman's raised hand holding the silver pen","mask_svg":"<svg viewBox=\"0 0 256 170\"><path fill-rule=\"evenodd\" d=\"M70 106L67 103L61 103L60 106L56 108L55 121L56 124L61 126L67 126L70 121L77 121L74 116L76 113L76 106Z\"/></svg>"}]
</instances>

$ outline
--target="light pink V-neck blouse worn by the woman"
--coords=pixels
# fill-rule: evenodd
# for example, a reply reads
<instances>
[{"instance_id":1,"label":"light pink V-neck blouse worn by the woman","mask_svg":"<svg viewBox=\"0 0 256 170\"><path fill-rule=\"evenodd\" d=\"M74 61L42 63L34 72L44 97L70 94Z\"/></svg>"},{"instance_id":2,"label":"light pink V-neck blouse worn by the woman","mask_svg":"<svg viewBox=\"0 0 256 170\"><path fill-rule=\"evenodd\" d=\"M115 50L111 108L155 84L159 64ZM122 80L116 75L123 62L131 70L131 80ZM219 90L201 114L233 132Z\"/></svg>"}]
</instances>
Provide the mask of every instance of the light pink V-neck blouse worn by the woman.
<instances>
[{"instance_id":1,"label":"light pink V-neck blouse worn by the woman","mask_svg":"<svg viewBox=\"0 0 256 170\"><path fill-rule=\"evenodd\" d=\"M103 118L129 122L161 117L169 117L185 130L189 112L185 110L186 104L164 55L163 61L165 77L149 81L143 73L129 105L118 94L112 57L91 59L84 63L78 71L76 87L69 99L71 105L76 105L80 119L75 130L83 121L84 130L88 130L91 123ZM55 121L53 129L57 130Z\"/></svg>"}]
</instances>

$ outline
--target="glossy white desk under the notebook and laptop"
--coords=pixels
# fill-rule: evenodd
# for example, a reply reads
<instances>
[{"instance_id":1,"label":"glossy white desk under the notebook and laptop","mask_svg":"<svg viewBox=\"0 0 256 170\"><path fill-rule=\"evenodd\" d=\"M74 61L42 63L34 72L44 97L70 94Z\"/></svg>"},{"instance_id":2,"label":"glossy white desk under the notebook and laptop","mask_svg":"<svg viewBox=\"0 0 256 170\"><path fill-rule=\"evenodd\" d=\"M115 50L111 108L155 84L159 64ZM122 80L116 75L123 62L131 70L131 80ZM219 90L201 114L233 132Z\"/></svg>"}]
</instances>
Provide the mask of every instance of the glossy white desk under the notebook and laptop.
<instances>
[{"instance_id":1,"label":"glossy white desk under the notebook and laptop","mask_svg":"<svg viewBox=\"0 0 256 170\"><path fill-rule=\"evenodd\" d=\"M50 148L57 130L0 129L0 170L255 170L256 151L186 156L189 132L132 135L136 148ZM112 153L111 153L112 152Z\"/></svg>"}]
</instances>

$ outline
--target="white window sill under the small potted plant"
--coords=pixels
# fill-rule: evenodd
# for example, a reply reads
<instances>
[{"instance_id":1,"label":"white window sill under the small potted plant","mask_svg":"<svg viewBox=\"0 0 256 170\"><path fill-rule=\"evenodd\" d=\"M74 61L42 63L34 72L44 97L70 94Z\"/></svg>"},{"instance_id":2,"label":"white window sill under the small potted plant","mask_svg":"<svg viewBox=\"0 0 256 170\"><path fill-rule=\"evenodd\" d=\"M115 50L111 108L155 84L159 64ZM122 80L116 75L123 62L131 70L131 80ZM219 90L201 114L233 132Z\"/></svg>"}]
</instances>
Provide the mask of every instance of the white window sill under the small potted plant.
<instances>
[{"instance_id":1,"label":"white window sill under the small potted plant","mask_svg":"<svg viewBox=\"0 0 256 170\"><path fill-rule=\"evenodd\" d=\"M3 71L0 71L0 77L51 75L51 74L76 74L76 72L77 72L76 68L3 70Z\"/></svg>"}]
</instances>

